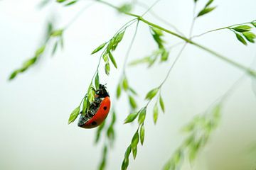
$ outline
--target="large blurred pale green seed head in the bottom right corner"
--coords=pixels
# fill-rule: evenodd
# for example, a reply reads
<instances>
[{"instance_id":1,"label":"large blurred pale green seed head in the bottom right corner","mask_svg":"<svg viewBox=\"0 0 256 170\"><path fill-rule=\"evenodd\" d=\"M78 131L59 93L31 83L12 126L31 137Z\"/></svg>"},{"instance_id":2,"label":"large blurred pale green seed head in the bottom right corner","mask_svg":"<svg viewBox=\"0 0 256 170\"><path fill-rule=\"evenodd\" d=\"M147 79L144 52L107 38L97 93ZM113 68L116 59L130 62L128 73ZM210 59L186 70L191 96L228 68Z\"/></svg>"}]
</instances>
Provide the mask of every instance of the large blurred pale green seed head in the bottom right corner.
<instances>
[{"instance_id":1,"label":"large blurred pale green seed head in the bottom right corner","mask_svg":"<svg viewBox=\"0 0 256 170\"><path fill-rule=\"evenodd\" d=\"M207 144L210 134L217 128L220 121L220 112L222 108L222 103L217 103L213 108L203 114L197 115L191 122L182 128L183 132L187 133L185 140L173 156L166 162L164 170L176 170L181 165L181 159L183 156L188 157L189 161L192 163L198 152L203 149Z\"/></svg>"}]
</instances>

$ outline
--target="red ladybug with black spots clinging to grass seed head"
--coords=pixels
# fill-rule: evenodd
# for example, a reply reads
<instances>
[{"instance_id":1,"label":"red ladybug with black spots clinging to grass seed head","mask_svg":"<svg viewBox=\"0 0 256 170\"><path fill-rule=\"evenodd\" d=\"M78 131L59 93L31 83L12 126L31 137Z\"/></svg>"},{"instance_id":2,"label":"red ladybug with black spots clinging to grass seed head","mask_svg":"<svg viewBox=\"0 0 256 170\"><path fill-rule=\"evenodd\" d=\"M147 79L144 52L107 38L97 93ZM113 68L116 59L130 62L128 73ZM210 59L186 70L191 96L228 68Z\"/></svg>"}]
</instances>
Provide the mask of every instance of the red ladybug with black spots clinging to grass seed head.
<instances>
[{"instance_id":1,"label":"red ladybug with black spots clinging to grass seed head","mask_svg":"<svg viewBox=\"0 0 256 170\"><path fill-rule=\"evenodd\" d=\"M80 115L78 126L80 128L95 128L107 118L110 112L110 95L107 93L105 85L100 84L95 91L95 99L90 104L90 108L85 115Z\"/></svg>"}]
</instances>

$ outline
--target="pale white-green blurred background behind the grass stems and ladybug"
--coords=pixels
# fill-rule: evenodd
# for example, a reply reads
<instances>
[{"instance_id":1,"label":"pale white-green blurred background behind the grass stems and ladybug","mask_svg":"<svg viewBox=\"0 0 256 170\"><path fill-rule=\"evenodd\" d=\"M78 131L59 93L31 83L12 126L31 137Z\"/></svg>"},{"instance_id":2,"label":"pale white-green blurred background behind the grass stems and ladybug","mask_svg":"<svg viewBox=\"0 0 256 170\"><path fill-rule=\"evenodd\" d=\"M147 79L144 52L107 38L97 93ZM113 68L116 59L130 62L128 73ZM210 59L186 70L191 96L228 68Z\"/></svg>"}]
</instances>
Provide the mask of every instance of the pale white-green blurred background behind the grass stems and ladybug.
<instances>
[{"instance_id":1,"label":"pale white-green blurred background behind the grass stems and ladybug","mask_svg":"<svg viewBox=\"0 0 256 170\"><path fill-rule=\"evenodd\" d=\"M14 69L33 56L48 18L54 17L61 28L88 4L80 1L65 8L52 3L39 10L39 2L0 1L0 169L97 169L102 147L94 145L95 129L81 129L76 123L68 125L68 117L80 103L95 72L99 56L90 56L90 52L111 38L130 18L110 7L94 4L64 33L64 51L58 50L54 57L45 55L28 72L7 81ZM123 2L112 0L117 5ZM144 2L154 3L153 0ZM215 11L196 21L194 35L256 18L255 0L215 0L214 4L218 5ZM153 10L188 35L192 0L162 0ZM144 8L138 7L134 13L143 11ZM169 28L149 13L145 17ZM100 78L102 83L107 83L112 98L133 31L134 26L127 30L114 52L119 69L112 67L110 77L106 77L103 66L100 67ZM171 35L165 39L169 45L179 42ZM228 30L195 40L245 65L252 64L256 55L255 45L245 47ZM144 57L154 49L156 44L148 27L140 23L129 61ZM130 84L139 91L140 107L145 105L146 92L164 79L178 49L171 51L169 62L164 64L151 69L145 66L127 69ZM149 109L144 146L138 148L135 162L131 157L129 169L161 169L184 138L180 128L193 115L203 113L241 75L230 64L188 46L162 90L166 113L160 114L154 125ZM251 87L251 79L247 77L225 103L220 125L195 164L186 162L182 169L255 170L256 98ZM117 139L108 156L107 169L120 169L125 149L137 129L136 124L123 125L129 113L127 97L123 95L116 105Z\"/></svg>"}]
</instances>

